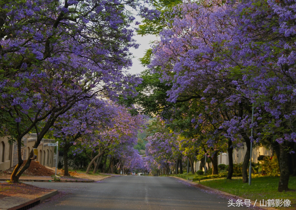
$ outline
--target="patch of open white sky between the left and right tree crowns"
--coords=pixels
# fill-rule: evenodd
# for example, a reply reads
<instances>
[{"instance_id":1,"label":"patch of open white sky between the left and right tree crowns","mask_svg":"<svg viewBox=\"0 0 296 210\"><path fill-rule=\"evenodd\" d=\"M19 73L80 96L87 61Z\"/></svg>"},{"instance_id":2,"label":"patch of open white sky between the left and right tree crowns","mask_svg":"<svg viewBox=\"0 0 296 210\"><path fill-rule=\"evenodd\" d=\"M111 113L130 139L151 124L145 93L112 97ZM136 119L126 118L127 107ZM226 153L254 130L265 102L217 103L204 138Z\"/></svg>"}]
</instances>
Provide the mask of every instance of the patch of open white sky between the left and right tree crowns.
<instances>
[{"instance_id":1,"label":"patch of open white sky between the left and right tree crowns","mask_svg":"<svg viewBox=\"0 0 296 210\"><path fill-rule=\"evenodd\" d=\"M143 37L141 35L135 35L133 38L137 40L140 46L138 49L130 48L130 51L135 58L133 58L133 66L128 72L131 74L139 74L141 71L145 70L145 67L140 63L139 58L143 58L145 51L151 48L149 42L156 40L156 37L155 35L147 35Z\"/></svg>"}]
</instances>

